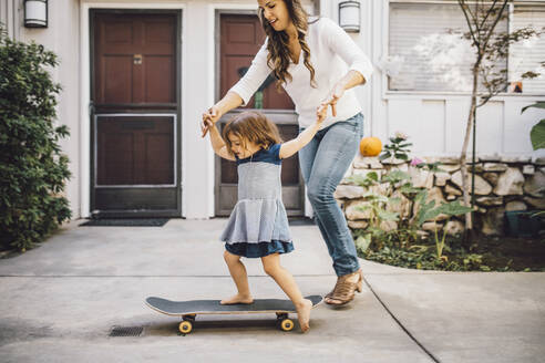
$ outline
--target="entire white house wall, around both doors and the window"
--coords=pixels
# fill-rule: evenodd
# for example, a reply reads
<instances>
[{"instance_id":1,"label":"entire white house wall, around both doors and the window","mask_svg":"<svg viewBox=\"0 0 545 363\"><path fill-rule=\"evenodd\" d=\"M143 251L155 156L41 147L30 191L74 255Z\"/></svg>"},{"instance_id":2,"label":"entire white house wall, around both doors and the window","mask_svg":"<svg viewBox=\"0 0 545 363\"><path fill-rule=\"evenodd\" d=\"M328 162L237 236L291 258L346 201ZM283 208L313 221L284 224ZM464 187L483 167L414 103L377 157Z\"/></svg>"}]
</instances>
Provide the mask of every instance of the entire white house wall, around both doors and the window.
<instances>
[{"instance_id":1,"label":"entire white house wall, around both doors and the window","mask_svg":"<svg viewBox=\"0 0 545 363\"><path fill-rule=\"evenodd\" d=\"M306 0L310 12L338 20L340 0ZM215 11L256 9L255 0L186 1L49 1L49 28L22 25L22 0L0 3L0 21L7 22L11 37L34 40L54 51L61 65L53 77L63 85L59 123L70 127L62 141L70 157L72 178L66 196L73 217L90 215L90 43L89 9L141 8L182 9L182 166L183 216L208 218L214 215L214 154L207 139L199 136L203 111L214 104ZM374 64L388 50L388 1L361 1L361 31L351 34ZM420 155L455 155L461 149L469 96L466 94L399 93L387 90L384 73L377 69L370 84L357 89L366 114L366 134L387 139L395 131L412 137ZM504 95L480 110L477 151L481 154L533 155L529 128L537 110L521 115L520 110L544 96ZM439 137L438 137L439 133Z\"/></svg>"}]
</instances>

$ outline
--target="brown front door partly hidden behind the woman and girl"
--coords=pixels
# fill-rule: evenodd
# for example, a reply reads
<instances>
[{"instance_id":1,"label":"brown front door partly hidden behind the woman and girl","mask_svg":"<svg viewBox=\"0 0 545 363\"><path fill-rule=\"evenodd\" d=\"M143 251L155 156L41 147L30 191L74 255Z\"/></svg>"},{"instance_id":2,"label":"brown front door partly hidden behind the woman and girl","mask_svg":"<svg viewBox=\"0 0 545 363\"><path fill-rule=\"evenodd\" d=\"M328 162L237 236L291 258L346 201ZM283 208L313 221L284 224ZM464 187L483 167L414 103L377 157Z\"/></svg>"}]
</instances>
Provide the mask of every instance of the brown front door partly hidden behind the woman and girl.
<instances>
[{"instance_id":1,"label":"brown front door partly hidden behind the woman and girl","mask_svg":"<svg viewBox=\"0 0 545 363\"><path fill-rule=\"evenodd\" d=\"M255 14L220 14L219 46L219 94L227 91L240 79L265 41L265 32ZM278 93L272 76L264 82L248 105L225 115L225 123L245 108L259 108L275 122L284 141L298 134L294 103L284 92ZM299 172L297 155L282 162L282 200L289 216L302 216L305 189ZM236 163L216 157L216 216L228 216L237 200Z\"/></svg>"}]
</instances>

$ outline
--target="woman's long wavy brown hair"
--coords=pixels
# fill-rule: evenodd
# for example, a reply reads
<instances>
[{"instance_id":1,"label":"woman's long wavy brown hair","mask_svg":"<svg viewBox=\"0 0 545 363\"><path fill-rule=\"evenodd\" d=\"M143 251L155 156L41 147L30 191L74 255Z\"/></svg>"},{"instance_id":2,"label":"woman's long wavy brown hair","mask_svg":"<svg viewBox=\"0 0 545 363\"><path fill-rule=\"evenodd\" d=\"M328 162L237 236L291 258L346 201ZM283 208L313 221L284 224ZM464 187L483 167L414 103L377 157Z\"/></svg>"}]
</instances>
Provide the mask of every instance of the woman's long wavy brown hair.
<instances>
[{"instance_id":1,"label":"woman's long wavy brown hair","mask_svg":"<svg viewBox=\"0 0 545 363\"><path fill-rule=\"evenodd\" d=\"M305 66L310 71L310 85L316 87L315 81L315 69L310 64L310 49L308 48L305 35L308 31L308 14L301 6L300 0L282 0L288 9L289 18L297 29L297 34L299 39L299 44L301 44L301 51L304 53ZM268 37L267 50L269 54L267 55L267 64L272 69L272 73L277 79L276 87L280 89L282 83L287 83L286 80L291 81L291 74L288 72L288 66L290 62L288 42L289 37L285 31L276 31L272 25L269 24L267 19L264 17L264 9L259 8L257 11L261 27Z\"/></svg>"}]
</instances>

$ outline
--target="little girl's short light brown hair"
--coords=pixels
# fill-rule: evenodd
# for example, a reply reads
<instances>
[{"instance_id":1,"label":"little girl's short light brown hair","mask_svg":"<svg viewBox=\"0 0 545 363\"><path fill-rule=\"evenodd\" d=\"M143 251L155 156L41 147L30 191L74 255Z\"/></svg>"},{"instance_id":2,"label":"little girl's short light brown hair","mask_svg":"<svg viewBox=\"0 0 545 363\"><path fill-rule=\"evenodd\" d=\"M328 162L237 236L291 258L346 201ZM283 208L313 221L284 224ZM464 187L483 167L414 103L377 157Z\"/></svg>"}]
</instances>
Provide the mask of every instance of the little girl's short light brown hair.
<instances>
[{"instance_id":1,"label":"little girl's short light brown hair","mask_svg":"<svg viewBox=\"0 0 545 363\"><path fill-rule=\"evenodd\" d=\"M233 154L233 145L229 139L229 134L233 134L240 138L244 147L246 142L249 141L264 148L269 147L271 144L279 144L282 142L278 127L271 123L264 114L255 111L246 111L234 116L223 131L223 136L227 149Z\"/></svg>"}]
</instances>

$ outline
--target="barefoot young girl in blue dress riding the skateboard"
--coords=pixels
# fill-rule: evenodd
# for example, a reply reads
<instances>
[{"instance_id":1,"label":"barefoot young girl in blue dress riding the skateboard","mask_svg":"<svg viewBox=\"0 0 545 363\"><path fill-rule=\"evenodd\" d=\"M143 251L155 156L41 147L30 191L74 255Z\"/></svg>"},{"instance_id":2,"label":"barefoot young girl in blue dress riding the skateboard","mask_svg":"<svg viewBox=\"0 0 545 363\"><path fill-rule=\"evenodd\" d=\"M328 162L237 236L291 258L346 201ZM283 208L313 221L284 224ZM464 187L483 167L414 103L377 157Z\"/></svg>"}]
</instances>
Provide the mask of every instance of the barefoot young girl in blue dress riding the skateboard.
<instances>
[{"instance_id":1,"label":"barefoot young girl in blue dress riding the skateboard","mask_svg":"<svg viewBox=\"0 0 545 363\"><path fill-rule=\"evenodd\" d=\"M248 276L240 257L260 258L264 270L286 292L297 310L301 331L309 330L312 302L304 299L294 277L280 266L280 255L294 250L288 217L281 201L281 160L307 145L320 128L327 107L316 122L295 139L280 144L278 128L263 114L243 112L225 126L223 136L203 115L210 131L214 152L237 162L238 201L222 234L224 258L237 287L237 294L222 304L251 303ZM224 142L225 139L225 142Z\"/></svg>"}]
</instances>

